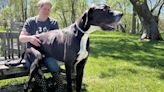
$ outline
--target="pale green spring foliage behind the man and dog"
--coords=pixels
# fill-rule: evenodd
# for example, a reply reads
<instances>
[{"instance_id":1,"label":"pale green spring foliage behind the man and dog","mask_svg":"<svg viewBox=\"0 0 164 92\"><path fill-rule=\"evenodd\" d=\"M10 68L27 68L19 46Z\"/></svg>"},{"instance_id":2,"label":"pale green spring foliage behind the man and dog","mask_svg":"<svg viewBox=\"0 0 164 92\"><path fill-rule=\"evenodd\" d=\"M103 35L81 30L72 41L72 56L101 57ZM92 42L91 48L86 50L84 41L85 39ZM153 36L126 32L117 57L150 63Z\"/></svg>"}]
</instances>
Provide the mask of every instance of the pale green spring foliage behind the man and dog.
<instances>
[{"instance_id":1,"label":"pale green spring foliage behind the man and dog","mask_svg":"<svg viewBox=\"0 0 164 92\"><path fill-rule=\"evenodd\" d=\"M3 1L3 0L2 0ZM1 4L3 2L1 1ZM1 17L0 20L7 19L15 19L17 21L23 20L22 12L25 12L25 1L26 0L8 0L9 4L1 9ZM20 2L24 1L24 2ZM107 3L112 10L118 10L124 13L122 18L122 24L126 29L126 32L131 30L132 24L132 4L129 0L51 0L53 3L51 17L57 19L60 23L60 27L65 27L70 25L74 20L77 20L82 13L88 8L91 3ZM145 0L138 0L138 2L142 3ZM159 5L161 5L162 0L157 0L156 4L153 6L153 0L148 0L148 4L150 9L157 10ZM160 1L160 3L158 3ZM38 0L27 0L27 16L35 16L38 13ZM23 3L23 4L22 4ZM5 4L4 4L5 5ZM23 5L23 6L22 6ZM72 5L74 6L72 8ZM23 7L23 9L22 9ZM73 11L74 10L74 14ZM157 13L157 11L154 11Z\"/></svg>"}]
</instances>

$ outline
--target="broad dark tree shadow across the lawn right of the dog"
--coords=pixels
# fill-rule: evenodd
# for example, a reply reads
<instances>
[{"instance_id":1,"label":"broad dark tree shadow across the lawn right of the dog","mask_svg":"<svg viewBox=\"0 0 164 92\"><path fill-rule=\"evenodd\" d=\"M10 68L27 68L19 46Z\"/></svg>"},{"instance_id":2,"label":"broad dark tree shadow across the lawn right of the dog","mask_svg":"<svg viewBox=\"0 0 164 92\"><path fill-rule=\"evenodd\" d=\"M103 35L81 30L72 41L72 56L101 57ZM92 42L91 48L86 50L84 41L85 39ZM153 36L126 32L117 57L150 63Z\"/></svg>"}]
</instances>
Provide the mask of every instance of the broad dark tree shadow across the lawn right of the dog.
<instances>
[{"instance_id":1,"label":"broad dark tree shadow across the lawn right of the dog","mask_svg":"<svg viewBox=\"0 0 164 92\"><path fill-rule=\"evenodd\" d=\"M98 39L97 39L98 38ZM164 45L162 42L141 42L133 38L97 37L91 39L92 57L111 57L124 60L139 66L148 66L162 70L164 67ZM122 70L121 70L122 71ZM135 71L132 71L136 73ZM111 76L102 73L102 76ZM159 77L164 79L164 73Z\"/></svg>"}]
</instances>

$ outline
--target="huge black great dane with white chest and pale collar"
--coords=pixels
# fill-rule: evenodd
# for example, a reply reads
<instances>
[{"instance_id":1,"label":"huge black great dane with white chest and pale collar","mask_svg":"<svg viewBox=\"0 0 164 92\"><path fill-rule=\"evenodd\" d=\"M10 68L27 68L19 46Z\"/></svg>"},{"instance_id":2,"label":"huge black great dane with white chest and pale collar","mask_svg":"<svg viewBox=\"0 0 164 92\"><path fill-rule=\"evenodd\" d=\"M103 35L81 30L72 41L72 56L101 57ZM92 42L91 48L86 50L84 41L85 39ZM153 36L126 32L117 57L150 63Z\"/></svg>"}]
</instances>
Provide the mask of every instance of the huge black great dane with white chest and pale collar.
<instances>
[{"instance_id":1,"label":"huge black great dane with white chest and pale collar","mask_svg":"<svg viewBox=\"0 0 164 92\"><path fill-rule=\"evenodd\" d=\"M37 56L36 62L42 59L41 55L51 56L64 62L67 91L72 92L71 73L73 72L76 75L76 91L80 92L83 69L89 55L89 35L93 32L88 29L93 25L110 31L122 16L121 12L112 11L106 4L92 5L78 21L69 27L36 35L42 41L40 47L33 46L36 50L33 52Z\"/></svg>"}]
</instances>

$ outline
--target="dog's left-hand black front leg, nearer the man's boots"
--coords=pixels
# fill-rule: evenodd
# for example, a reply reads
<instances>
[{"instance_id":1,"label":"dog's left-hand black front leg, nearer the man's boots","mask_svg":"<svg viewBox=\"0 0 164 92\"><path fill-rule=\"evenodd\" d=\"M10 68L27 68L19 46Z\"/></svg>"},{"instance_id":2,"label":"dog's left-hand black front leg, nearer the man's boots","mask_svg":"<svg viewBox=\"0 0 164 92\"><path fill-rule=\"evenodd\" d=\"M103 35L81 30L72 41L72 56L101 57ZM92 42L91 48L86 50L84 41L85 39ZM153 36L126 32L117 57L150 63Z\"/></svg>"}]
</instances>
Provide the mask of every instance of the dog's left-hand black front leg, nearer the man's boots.
<instances>
[{"instance_id":1,"label":"dog's left-hand black front leg, nearer the man's boots","mask_svg":"<svg viewBox=\"0 0 164 92\"><path fill-rule=\"evenodd\" d=\"M71 80L71 62L65 62L66 78L67 78L67 92L72 92L72 80Z\"/></svg>"}]
</instances>

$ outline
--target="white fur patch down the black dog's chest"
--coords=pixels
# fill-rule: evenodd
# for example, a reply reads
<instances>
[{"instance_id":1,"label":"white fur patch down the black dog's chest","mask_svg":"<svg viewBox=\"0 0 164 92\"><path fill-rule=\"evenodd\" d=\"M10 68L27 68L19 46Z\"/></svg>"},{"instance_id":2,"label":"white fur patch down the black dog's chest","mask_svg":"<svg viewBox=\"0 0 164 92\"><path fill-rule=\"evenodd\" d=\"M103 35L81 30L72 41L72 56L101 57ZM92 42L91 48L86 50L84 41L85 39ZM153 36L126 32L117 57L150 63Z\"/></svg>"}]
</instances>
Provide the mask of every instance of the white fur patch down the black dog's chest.
<instances>
[{"instance_id":1,"label":"white fur patch down the black dog's chest","mask_svg":"<svg viewBox=\"0 0 164 92\"><path fill-rule=\"evenodd\" d=\"M81 61L83 59L85 59L88 56L88 51L87 51L87 41L89 38L89 34L84 34L81 38L80 41L80 50L78 52L78 57L77 57L77 61Z\"/></svg>"}]
</instances>

